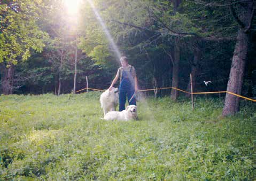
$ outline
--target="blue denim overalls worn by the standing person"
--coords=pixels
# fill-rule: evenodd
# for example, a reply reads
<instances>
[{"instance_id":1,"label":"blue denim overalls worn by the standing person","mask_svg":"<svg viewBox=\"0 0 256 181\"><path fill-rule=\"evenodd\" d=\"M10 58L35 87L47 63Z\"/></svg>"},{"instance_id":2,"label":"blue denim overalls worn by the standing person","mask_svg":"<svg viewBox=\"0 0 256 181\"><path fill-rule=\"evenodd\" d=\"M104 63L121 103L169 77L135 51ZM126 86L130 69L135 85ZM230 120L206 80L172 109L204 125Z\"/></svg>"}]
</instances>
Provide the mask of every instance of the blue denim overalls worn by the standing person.
<instances>
[{"instance_id":1,"label":"blue denim overalls worn by the standing person","mask_svg":"<svg viewBox=\"0 0 256 181\"><path fill-rule=\"evenodd\" d=\"M131 69L130 72L126 72L125 70L122 71L122 79L119 85L119 91L119 111L123 111L125 110L126 95L129 102L135 93L134 77L131 75ZM130 100L129 105L136 105L135 96Z\"/></svg>"}]
</instances>

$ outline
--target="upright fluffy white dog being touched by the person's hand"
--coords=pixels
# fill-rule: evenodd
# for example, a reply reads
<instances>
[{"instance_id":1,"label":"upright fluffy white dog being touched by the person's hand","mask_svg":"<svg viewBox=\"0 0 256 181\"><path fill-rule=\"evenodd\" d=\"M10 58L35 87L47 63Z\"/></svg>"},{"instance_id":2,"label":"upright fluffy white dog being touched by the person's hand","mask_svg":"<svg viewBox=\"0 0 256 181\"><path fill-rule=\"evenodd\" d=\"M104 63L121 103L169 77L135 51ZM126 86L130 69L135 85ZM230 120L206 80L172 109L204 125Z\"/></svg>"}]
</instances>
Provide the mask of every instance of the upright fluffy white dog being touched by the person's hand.
<instances>
[{"instance_id":1,"label":"upright fluffy white dog being touched by the person's hand","mask_svg":"<svg viewBox=\"0 0 256 181\"><path fill-rule=\"evenodd\" d=\"M107 112L115 111L119 103L118 88L113 88L111 91L107 89L100 95L99 101L103 108L104 116Z\"/></svg>"}]
</instances>

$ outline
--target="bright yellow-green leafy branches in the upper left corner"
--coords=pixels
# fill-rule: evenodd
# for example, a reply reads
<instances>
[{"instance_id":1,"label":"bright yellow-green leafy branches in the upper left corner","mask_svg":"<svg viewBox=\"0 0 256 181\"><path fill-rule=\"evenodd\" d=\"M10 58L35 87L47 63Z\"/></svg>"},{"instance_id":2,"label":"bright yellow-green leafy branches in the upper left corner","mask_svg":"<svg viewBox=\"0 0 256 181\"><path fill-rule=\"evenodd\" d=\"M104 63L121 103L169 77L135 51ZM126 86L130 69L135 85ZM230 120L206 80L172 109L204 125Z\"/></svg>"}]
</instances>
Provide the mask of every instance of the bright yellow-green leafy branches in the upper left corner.
<instances>
[{"instance_id":1,"label":"bright yellow-green leafy branches in the upper left corner","mask_svg":"<svg viewBox=\"0 0 256 181\"><path fill-rule=\"evenodd\" d=\"M44 40L48 35L40 30L37 20L37 1L15 1L10 6L0 4L0 62L16 65L18 61L25 61L30 57L31 50L41 52ZM26 10L26 11L24 11Z\"/></svg>"}]
</instances>

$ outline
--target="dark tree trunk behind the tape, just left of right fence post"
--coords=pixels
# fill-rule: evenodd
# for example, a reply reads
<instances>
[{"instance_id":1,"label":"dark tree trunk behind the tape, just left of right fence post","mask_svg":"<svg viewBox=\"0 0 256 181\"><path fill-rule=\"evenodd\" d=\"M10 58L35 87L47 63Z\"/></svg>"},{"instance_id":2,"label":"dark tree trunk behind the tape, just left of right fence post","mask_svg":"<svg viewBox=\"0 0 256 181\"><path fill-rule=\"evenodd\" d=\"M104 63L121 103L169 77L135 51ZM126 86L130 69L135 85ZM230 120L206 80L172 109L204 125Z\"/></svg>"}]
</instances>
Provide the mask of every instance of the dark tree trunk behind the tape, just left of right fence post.
<instances>
[{"instance_id":1,"label":"dark tree trunk behind the tape, just left of right fence post","mask_svg":"<svg viewBox=\"0 0 256 181\"><path fill-rule=\"evenodd\" d=\"M180 68L180 46L178 38L175 39L174 47L174 62L173 62L173 78L172 78L172 87L178 88L179 86L179 68ZM179 92L175 89L172 89L170 92L170 98L176 100Z\"/></svg>"}]
</instances>

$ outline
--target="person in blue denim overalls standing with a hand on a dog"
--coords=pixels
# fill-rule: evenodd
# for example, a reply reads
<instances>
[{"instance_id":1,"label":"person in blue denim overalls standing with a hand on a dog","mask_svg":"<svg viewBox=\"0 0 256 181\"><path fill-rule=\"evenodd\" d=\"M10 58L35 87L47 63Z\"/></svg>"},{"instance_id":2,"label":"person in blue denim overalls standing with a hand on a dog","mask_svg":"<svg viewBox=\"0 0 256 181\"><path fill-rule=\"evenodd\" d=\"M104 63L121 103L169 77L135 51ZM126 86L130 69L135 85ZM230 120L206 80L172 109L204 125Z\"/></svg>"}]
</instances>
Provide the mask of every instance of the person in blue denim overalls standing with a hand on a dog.
<instances>
[{"instance_id":1,"label":"person in blue denim overalls standing with a hand on a dog","mask_svg":"<svg viewBox=\"0 0 256 181\"><path fill-rule=\"evenodd\" d=\"M119 85L119 111L125 110L126 96L128 98L129 105L136 105L135 92L138 90L137 77L135 68L128 64L127 57L121 57L121 67L118 69L117 75L115 76L109 90L112 90L113 85L117 82L120 77Z\"/></svg>"}]
</instances>

